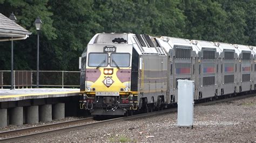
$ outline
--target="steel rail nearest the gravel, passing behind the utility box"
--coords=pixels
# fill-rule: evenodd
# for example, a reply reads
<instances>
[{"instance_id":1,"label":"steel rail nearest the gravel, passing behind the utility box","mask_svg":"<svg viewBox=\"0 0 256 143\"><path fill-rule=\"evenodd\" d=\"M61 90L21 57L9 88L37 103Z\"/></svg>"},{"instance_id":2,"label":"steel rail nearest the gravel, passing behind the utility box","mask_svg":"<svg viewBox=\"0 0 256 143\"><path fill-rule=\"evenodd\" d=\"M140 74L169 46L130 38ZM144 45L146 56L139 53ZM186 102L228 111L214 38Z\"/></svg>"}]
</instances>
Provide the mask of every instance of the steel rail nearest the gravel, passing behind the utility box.
<instances>
[{"instance_id":1,"label":"steel rail nearest the gravel, passing behind the utility box","mask_svg":"<svg viewBox=\"0 0 256 143\"><path fill-rule=\"evenodd\" d=\"M256 94L242 95L242 96L235 96L235 97L230 97L230 98L218 99L216 101L211 101L211 102L206 102L206 103L198 103L198 104L196 104L196 106L210 105L210 104L215 104L215 103L220 103L220 102L227 102L227 101L232 101L232 100L235 100L235 99L241 99L241 98L247 98L247 97L253 97L253 96L256 96ZM48 135L48 134L70 132L70 131L80 130L80 129L84 129L84 128L89 128L89 127L95 127L95 126L100 126L100 125L117 123L119 121L124 121L124 120L132 120L132 119L137 119L137 118L150 117L150 116L154 116L154 115L160 115L160 114L164 114L164 113L172 113L172 112L176 112L176 111L177 111L177 108L172 108L172 109L154 111L154 112L149 112L149 113L142 113L142 114L128 116L128 117L120 117L120 118L108 119L108 120L103 120L103 121L97 121L95 123L68 126L68 127L63 127L63 128L56 128L56 129L49 130L49 131L25 134L25 135L20 135L20 136L17 136L17 137L3 138L3 139L0 139L0 142L1 141L3 141L3 142L19 141L19 140L29 139L29 138L33 138L33 137L39 137L39 136ZM0 133L0 135L1 135L1 133Z\"/></svg>"}]
</instances>

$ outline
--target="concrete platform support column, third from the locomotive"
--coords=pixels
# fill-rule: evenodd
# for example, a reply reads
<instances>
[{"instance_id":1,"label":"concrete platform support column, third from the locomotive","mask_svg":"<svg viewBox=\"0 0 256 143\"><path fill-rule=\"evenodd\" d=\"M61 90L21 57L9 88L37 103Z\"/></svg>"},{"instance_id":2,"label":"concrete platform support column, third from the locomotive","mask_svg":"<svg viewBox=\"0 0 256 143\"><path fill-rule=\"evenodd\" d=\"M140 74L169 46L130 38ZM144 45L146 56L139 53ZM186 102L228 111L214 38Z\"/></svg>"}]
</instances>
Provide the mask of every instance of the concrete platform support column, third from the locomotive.
<instances>
[{"instance_id":1,"label":"concrete platform support column, third from the locomotive","mask_svg":"<svg viewBox=\"0 0 256 143\"><path fill-rule=\"evenodd\" d=\"M37 124L39 121L38 106L28 106L26 110L26 123Z\"/></svg>"}]
</instances>

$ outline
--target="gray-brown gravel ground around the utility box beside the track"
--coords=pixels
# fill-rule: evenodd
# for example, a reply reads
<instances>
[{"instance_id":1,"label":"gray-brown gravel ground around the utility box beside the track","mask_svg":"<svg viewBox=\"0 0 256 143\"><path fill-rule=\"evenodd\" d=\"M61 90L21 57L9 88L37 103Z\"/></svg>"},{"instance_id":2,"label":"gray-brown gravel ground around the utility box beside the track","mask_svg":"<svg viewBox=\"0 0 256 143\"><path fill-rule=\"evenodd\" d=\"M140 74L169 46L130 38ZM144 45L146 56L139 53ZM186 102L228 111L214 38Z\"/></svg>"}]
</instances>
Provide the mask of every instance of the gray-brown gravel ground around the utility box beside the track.
<instances>
[{"instance_id":1,"label":"gray-brown gravel ground around the utility box beside the track","mask_svg":"<svg viewBox=\"0 0 256 143\"><path fill-rule=\"evenodd\" d=\"M256 141L256 96L194 107L191 128L177 127L177 113L120 121L24 142L76 141Z\"/></svg>"}]
</instances>

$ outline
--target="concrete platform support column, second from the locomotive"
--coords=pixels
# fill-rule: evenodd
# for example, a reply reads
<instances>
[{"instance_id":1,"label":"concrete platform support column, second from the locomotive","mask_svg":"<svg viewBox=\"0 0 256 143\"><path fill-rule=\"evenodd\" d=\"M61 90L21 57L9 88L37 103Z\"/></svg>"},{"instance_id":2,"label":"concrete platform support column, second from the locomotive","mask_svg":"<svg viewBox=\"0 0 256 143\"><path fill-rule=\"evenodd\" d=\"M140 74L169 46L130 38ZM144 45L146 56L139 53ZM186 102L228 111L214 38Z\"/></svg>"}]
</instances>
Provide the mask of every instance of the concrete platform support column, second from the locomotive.
<instances>
[{"instance_id":1,"label":"concrete platform support column, second from the locomotive","mask_svg":"<svg viewBox=\"0 0 256 143\"><path fill-rule=\"evenodd\" d=\"M39 121L51 121L52 120L52 108L51 104L45 104L39 106Z\"/></svg>"}]
</instances>

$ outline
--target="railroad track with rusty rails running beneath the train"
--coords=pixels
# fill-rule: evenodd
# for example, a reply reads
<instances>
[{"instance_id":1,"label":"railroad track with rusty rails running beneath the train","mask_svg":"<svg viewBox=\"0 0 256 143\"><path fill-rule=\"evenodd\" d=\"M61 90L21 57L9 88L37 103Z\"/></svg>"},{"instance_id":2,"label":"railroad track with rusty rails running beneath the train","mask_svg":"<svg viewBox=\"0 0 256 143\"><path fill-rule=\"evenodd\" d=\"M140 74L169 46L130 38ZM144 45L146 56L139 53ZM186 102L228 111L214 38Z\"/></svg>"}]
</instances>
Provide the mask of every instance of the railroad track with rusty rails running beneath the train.
<instances>
[{"instance_id":1,"label":"railroad track with rusty rails running beneath the train","mask_svg":"<svg viewBox=\"0 0 256 143\"><path fill-rule=\"evenodd\" d=\"M227 102L227 101L232 101L235 99L252 97L255 95L256 94L250 94L250 95L235 96L235 97L225 98L225 99L218 99L217 101L211 101L211 102L207 102L207 103L198 103L198 104L196 104L196 106L210 105L210 104L215 104L215 103L220 103L220 102ZM163 113L172 113L172 112L176 112L176 111L177 111L177 108L172 108L172 109L166 109L166 110L161 110L161 111L142 113L139 115L133 115L133 116L128 116L128 117L120 117L120 118L114 118L114 119L108 119L108 120L95 121L93 123L88 123L88 121L93 120L93 118L90 117L90 118L73 120L73 121L65 121L62 123L22 128L19 130L12 130L12 131L4 131L4 132L0 132L0 142L19 141L19 140L24 140L24 139L34 138L34 137L40 137L40 136L48 135L48 134L70 132L70 131L80 130L80 129L94 127L94 126L117 123L119 121L124 121L124 120L150 117L150 116L154 116L154 115L160 115Z\"/></svg>"}]
</instances>

